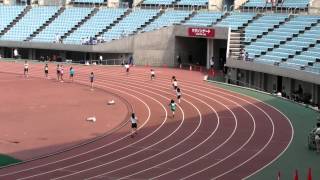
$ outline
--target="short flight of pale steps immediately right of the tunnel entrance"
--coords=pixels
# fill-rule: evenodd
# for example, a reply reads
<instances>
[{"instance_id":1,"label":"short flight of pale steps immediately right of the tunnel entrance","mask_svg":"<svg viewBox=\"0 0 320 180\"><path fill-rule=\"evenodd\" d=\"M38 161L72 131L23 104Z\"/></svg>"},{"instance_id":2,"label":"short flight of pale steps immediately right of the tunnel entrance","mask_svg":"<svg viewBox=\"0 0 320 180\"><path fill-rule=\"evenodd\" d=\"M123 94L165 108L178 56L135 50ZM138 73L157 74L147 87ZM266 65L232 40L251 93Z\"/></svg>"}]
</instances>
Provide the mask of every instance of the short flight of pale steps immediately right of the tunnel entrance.
<instances>
[{"instance_id":1,"label":"short flight of pale steps immediately right of the tunnel entrance","mask_svg":"<svg viewBox=\"0 0 320 180\"><path fill-rule=\"evenodd\" d=\"M243 48L241 44L242 33L241 31L234 31L230 34L229 50L232 51L229 55L231 58L238 58L240 56L240 50Z\"/></svg>"}]
</instances>

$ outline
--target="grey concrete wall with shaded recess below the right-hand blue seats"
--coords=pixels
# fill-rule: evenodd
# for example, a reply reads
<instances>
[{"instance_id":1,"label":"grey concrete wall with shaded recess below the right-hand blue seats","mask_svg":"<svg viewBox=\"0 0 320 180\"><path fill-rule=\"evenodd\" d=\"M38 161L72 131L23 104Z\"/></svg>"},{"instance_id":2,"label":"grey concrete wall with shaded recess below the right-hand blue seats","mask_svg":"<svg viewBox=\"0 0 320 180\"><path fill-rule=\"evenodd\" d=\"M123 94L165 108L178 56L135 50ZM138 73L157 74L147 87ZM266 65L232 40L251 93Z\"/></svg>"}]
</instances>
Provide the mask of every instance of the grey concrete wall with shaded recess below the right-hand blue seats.
<instances>
[{"instance_id":1,"label":"grey concrete wall with shaded recess below the right-hand blue seats","mask_svg":"<svg viewBox=\"0 0 320 180\"><path fill-rule=\"evenodd\" d=\"M281 91L289 98L301 85L303 89L302 98L310 96L312 99L310 103L320 104L318 75L239 60L228 60L226 65L229 67L226 79L233 84L269 93ZM318 80L314 81L312 79ZM279 81L282 81L282 83ZM281 87L278 87L279 85Z\"/></svg>"}]
</instances>

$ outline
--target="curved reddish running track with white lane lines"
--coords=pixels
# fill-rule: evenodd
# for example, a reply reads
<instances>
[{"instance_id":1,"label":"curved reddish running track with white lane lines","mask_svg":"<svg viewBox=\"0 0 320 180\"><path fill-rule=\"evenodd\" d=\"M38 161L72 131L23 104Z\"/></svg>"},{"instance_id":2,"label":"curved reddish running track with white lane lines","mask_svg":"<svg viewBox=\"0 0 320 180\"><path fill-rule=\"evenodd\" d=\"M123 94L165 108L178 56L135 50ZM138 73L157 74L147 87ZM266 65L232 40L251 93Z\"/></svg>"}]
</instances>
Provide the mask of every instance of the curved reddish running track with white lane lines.
<instances>
[{"instance_id":1,"label":"curved reddish running track with white lane lines","mask_svg":"<svg viewBox=\"0 0 320 180\"><path fill-rule=\"evenodd\" d=\"M242 179L275 161L291 143L293 129L282 113L204 82L198 72L154 68L151 81L150 69L142 67L129 74L121 67L73 67L77 83L89 85L94 71L95 87L130 102L138 135L130 138L128 124L87 145L0 169L0 179ZM0 63L0 72L22 70L22 63ZM43 77L43 65L31 64L29 73ZM182 90L174 118L168 106L176 99L173 75Z\"/></svg>"}]
</instances>

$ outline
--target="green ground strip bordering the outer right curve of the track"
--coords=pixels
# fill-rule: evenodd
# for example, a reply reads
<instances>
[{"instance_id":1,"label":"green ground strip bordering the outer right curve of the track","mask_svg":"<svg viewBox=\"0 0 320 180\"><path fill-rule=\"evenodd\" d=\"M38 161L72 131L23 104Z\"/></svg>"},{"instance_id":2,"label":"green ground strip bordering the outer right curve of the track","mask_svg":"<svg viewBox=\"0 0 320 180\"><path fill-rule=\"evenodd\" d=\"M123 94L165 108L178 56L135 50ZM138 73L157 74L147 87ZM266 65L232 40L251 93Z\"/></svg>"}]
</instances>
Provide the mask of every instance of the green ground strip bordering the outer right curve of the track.
<instances>
[{"instance_id":1,"label":"green ground strip bordering the outer right curve of the track","mask_svg":"<svg viewBox=\"0 0 320 180\"><path fill-rule=\"evenodd\" d=\"M307 148L309 131L315 126L319 113L300 104L241 87L217 83L219 87L259 99L284 113L292 122L294 137L287 151L274 163L249 179L272 180L281 172L281 179L293 179L295 169L299 179L307 179L308 168L312 168L313 179L320 179L320 154Z\"/></svg>"}]
</instances>

